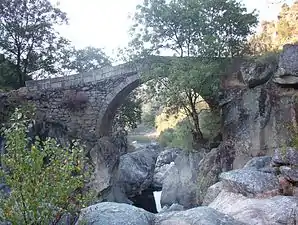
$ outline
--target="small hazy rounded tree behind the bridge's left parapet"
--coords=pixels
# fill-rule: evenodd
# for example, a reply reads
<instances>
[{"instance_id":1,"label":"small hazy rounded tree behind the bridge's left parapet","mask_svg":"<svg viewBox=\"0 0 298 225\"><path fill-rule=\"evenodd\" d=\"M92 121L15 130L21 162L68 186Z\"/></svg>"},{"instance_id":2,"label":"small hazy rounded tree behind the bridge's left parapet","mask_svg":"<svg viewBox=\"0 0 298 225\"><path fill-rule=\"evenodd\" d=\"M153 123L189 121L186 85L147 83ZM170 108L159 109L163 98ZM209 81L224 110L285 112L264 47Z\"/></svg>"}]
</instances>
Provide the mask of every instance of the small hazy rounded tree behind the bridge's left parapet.
<instances>
[{"instance_id":1,"label":"small hazy rounded tree behind the bridge's left parapet","mask_svg":"<svg viewBox=\"0 0 298 225\"><path fill-rule=\"evenodd\" d=\"M66 61L63 67L77 73L88 72L111 65L109 57L100 48L73 49L70 54L70 59Z\"/></svg>"}]
</instances>

